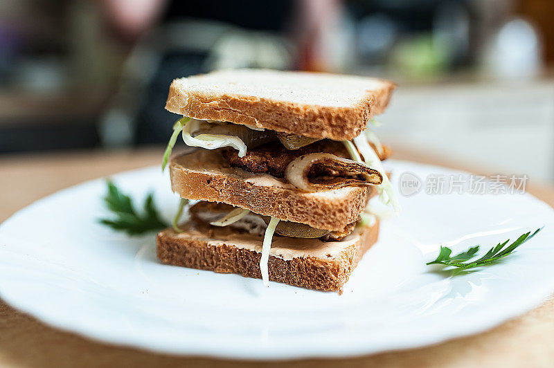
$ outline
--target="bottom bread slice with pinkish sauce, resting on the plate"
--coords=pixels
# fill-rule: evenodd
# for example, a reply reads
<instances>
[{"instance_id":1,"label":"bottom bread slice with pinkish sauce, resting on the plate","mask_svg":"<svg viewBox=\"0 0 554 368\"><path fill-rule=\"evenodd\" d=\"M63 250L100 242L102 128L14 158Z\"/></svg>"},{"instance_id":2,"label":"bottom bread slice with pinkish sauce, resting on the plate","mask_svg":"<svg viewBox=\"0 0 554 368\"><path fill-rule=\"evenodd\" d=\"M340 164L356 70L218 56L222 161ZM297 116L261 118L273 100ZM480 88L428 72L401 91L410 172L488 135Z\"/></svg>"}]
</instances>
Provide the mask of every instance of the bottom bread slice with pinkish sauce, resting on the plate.
<instances>
[{"instance_id":1,"label":"bottom bread slice with pinkish sauce, resting on the plate","mask_svg":"<svg viewBox=\"0 0 554 368\"><path fill-rule=\"evenodd\" d=\"M193 223L184 232L168 228L157 236L157 256L164 264L237 273L261 278L262 234ZM379 223L357 228L341 241L276 235L269 253L269 279L320 291L341 291L364 253L377 241Z\"/></svg>"}]
</instances>

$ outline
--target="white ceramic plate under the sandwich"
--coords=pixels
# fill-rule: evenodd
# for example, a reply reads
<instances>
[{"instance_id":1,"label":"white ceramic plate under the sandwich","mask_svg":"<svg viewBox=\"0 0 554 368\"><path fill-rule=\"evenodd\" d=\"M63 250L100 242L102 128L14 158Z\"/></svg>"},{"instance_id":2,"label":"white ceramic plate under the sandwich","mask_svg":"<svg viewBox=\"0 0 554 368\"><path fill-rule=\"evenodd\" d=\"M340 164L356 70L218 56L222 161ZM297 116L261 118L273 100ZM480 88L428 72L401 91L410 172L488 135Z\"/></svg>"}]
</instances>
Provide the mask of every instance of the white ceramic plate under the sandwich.
<instances>
[{"instance_id":1,"label":"white ceramic plate under the sandwich","mask_svg":"<svg viewBox=\"0 0 554 368\"><path fill-rule=\"evenodd\" d=\"M258 279L162 265L153 234L129 238L98 224L107 215L99 179L37 201L2 224L0 296L47 324L96 340L195 356L283 359L420 347L477 333L554 291L548 205L528 194L426 194L429 175L458 173L387 165L395 186L398 178L417 184L418 177L422 191L400 196L401 216L383 221L379 241L343 295L274 282L264 288ZM154 190L159 208L172 217L177 199L159 167L113 178L136 203ZM425 266L440 244L465 250L481 243L485 251L541 226L517 253L479 272L453 277Z\"/></svg>"}]
</instances>

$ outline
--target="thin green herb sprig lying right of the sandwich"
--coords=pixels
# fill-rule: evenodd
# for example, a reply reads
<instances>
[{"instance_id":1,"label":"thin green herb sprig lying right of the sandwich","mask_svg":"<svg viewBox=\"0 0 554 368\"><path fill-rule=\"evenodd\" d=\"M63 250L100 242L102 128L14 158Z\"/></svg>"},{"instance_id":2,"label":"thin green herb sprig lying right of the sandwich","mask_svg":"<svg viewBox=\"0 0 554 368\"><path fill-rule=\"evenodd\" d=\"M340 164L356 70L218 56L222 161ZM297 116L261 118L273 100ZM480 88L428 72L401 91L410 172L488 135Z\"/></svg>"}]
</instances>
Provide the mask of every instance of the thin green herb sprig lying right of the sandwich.
<instances>
[{"instance_id":1,"label":"thin green herb sprig lying right of the sandwich","mask_svg":"<svg viewBox=\"0 0 554 368\"><path fill-rule=\"evenodd\" d=\"M490 248L490 250L485 255L483 255L483 257L476 259L475 261L470 261L470 259L475 257L476 252L479 250L479 246L474 246L466 250L465 252L458 253L454 257L450 257L450 255L452 254L452 250L450 248L441 246L438 257L434 261L430 261L427 264L442 264L443 266L457 267L462 270L488 266L493 262L510 255L517 247L521 246L521 244L534 237L535 234L537 234L537 232L539 232L540 230L542 230L542 228L538 228L537 230L535 230L535 232L533 232L533 234L531 234L531 232L526 232L525 234L522 234L519 238L517 238L516 241L514 241L507 247L506 244L508 244L510 239L504 241L503 243L498 243L497 246Z\"/></svg>"}]
</instances>

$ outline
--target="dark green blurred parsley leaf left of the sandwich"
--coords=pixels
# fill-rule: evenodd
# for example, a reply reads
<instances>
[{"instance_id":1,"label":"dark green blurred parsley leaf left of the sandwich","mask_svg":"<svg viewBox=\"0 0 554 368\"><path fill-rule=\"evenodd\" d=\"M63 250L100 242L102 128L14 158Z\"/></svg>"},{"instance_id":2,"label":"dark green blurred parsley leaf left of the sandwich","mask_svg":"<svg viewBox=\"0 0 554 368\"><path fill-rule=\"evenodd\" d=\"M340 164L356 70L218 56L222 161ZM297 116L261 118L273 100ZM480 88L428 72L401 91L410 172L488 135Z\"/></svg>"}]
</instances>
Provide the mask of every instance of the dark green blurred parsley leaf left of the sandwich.
<instances>
[{"instance_id":1,"label":"dark green blurred parsley leaf left of the sandwich","mask_svg":"<svg viewBox=\"0 0 554 368\"><path fill-rule=\"evenodd\" d=\"M136 212L132 199L120 192L111 180L106 181L107 194L104 202L107 208L114 212L114 219L100 219L100 223L114 230L127 232L129 235L143 234L154 230L167 228L168 225L161 219L154 205L154 196L148 194L144 201L144 214Z\"/></svg>"}]
</instances>

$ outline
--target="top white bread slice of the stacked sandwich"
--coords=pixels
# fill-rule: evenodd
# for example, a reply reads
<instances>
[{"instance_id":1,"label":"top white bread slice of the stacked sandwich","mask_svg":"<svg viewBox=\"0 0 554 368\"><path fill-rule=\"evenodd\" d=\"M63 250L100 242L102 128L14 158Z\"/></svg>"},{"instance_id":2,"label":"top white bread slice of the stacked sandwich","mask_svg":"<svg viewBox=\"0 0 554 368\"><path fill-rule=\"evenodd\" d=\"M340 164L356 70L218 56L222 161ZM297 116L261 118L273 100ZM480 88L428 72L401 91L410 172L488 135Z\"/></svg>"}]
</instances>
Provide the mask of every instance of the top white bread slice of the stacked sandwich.
<instances>
[{"instance_id":1,"label":"top white bread slice of the stacked sandwich","mask_svg":"<svg viewBox=\"0 0 554 368\"><path fill-rule=\"evenodd\" d=\"M298 136L350 140L384 111L395 85L352 75L238 69L174 80L166 109Z\"/></svg>"}]
</instances>

